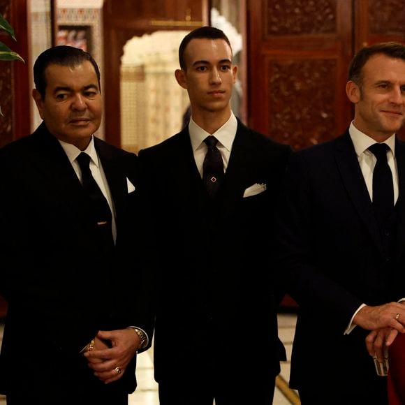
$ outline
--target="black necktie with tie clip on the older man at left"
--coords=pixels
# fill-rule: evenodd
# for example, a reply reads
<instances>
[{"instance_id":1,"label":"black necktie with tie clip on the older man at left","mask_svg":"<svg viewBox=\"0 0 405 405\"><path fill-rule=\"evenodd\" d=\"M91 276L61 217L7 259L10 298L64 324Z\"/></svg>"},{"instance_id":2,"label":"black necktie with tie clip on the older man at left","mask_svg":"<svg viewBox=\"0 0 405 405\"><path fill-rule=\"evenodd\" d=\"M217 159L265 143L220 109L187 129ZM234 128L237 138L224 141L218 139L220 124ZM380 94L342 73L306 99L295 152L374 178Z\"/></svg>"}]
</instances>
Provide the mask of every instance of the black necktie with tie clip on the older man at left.
<instances>
[{"instance_id":1,"label":"black necktie with tie clip on the older man at left","mask_svg":"<svg viewBox=\"0 0 405 405\"><path fill-rule=\"evenodd\" d=\"M114 244L112 240L112 228L111 220L112 214L110 206L105 199L100 187L98 187L96 180L91 175L90 170L90 156L82 152L76 160L80 165L80 170L82 171L82 185L84 191L86 191L87 196L91 202L92 213L94 214L94 221L96 221L98 230L103 238L104 242L108 244Z\"/></svg>"}]
</instances>

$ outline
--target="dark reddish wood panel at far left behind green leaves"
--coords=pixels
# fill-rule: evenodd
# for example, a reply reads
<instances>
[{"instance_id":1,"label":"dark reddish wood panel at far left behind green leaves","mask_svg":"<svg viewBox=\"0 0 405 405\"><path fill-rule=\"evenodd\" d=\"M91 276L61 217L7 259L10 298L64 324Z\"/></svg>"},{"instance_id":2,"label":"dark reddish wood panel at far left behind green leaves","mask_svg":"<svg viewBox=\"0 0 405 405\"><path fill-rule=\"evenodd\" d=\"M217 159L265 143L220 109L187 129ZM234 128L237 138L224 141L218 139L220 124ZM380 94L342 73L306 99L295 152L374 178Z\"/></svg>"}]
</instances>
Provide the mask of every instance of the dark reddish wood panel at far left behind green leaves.
<instances>
[{"instance_id":1,"label":"dark reddish wood panel at far left behind green leaves","mask_svg":"<svg viewBox=\"0 0 405 405\"><path fill-rule=\"evenodd\" d=\"M0 32L0 40L28 61L27 0L0 0L0 13L12 25L17 42ZM0 61L0 146L30 131L28 63Z\"/></svg>"}]
</instances>

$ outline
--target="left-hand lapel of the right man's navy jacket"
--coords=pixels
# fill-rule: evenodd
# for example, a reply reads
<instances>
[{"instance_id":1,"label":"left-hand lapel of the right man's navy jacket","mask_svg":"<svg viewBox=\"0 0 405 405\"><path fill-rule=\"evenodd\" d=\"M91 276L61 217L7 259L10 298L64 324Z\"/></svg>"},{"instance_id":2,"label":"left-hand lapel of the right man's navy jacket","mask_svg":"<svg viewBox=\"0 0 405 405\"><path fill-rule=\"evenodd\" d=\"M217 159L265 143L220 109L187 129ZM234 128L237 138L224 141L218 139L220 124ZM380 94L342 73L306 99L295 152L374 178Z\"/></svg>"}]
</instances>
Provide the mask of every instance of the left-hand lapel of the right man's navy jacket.
<instances>
[{"instance_id":1,"label":"left-hand lapel of the right man's navy jacket","mask_svg":"<svg viewBox=\"0 0 405 405\"><path fill-rule=\"evenodd\" d=\"M373 205L348 132L339 138L335 159L349 198L352 200L364 226L369 230L376 246L383 254L383 244Z\"/></svg>"}]
</instances>

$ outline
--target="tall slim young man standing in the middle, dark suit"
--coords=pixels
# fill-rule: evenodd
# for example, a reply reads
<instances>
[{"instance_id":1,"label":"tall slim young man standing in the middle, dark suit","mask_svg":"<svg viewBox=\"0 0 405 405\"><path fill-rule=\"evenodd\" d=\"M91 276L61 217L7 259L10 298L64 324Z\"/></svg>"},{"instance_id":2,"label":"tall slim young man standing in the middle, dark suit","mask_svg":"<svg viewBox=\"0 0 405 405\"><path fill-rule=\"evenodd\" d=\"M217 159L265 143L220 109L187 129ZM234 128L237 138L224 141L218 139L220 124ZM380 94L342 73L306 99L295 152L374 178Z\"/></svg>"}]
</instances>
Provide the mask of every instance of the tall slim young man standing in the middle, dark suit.
<instances>
[{"instance_id":1,"label":"tall slim young man standing in the middle, dark suit","mask_svg":"<svg viewBox=\"0 0 405 405\"><path fill-rule=\"evenodd\" d=\"M160 403L268 405L285 353L263 233L272 235L290 147L233 115L237 67L223 31L191 31L179 62L175 76L189 93L189 125L139 153L161 253L154 342ZM220 183L216 195L202 182L209 135L221 165L208 179Z\"/></svg>"}]
</instances>

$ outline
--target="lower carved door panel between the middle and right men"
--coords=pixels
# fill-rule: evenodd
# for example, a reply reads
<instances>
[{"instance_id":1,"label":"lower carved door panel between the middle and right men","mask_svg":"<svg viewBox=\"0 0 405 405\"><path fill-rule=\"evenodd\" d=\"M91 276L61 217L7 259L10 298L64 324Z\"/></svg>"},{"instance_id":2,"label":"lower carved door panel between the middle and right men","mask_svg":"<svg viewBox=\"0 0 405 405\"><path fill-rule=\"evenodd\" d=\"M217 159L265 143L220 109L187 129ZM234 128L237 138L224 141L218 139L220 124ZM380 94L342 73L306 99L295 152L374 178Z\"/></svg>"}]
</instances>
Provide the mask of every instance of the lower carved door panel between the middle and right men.
<instances>
[{"instance_id":1,"label":"lower carved door panel between the middle and right men","mask_svg":"<svg viewBox=\"0 0 405 405\"><path fill-rule=\"evenodd\" d=\"M294 149L329 139L335 132L336 60L275 61L268 75L272 138Z\"/></svg>"}]
</instances>

